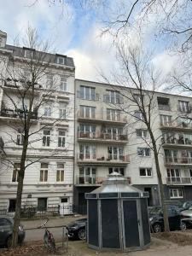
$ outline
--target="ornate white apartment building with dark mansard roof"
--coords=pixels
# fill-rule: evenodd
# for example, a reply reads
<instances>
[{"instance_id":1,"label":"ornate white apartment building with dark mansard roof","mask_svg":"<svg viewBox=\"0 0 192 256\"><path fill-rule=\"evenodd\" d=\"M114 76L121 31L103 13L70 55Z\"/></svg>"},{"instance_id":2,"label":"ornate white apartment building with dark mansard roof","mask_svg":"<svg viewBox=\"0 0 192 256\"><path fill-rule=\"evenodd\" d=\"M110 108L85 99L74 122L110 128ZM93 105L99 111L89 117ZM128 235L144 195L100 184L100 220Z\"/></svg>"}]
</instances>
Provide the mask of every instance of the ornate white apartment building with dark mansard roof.
<instances>
[{"instance_id":1,"label":"ornate white apartment building with dark mansard roof","mask_svg":"<svg viewBox=\"0 0 192 256\"><path fill-rule=\"evenodd\" d=\"M30 93L26 93L25 102L21 102L18 88L21 88L23 80L13 79L8 70L11 70L9 66L14 61L15 67L20 67L20 72L30 83L26 63L31 56L38 58L39 52L32 49L31 53L31 49L8 45L6 40L7 34L0 32L0 137L3 153L6 154L0 168L0 208L14 211L23 143L20 124L23 109L29 108L27 97L30 97ZM73 59L66 55L40 54L45 55L43 65L48 64L46 58L49 65L37 84L34 102L46 97L48 84L56 81L57 87L38 111L33 109L30 129L35 135L27 150L26 165L29 165L24 178L22 206L34 206L42 211L48 207L73 203L75 67Z\"/></svg>"}]
</instances>

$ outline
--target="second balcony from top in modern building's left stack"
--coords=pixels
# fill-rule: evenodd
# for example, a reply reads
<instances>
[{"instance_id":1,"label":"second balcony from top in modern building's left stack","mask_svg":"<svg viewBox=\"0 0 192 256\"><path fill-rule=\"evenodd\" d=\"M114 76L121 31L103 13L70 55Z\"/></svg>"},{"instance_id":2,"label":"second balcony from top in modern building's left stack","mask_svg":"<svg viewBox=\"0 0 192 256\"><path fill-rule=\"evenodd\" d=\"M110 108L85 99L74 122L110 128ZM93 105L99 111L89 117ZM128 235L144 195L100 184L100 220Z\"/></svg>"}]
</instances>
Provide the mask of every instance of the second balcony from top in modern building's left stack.
<instances>
[{"instance_id":1,"label":"second balcony from top in modern building's left stack","mask_svg":"<svg viewBox=\"0 0 192 256\"><path fill-rule=\"evenodd\" d=\"M111 134L104 132L83 132L79 131L78 140L90 143L128 143L128 138L124 134Z\"/></svg>"}]
</instances>

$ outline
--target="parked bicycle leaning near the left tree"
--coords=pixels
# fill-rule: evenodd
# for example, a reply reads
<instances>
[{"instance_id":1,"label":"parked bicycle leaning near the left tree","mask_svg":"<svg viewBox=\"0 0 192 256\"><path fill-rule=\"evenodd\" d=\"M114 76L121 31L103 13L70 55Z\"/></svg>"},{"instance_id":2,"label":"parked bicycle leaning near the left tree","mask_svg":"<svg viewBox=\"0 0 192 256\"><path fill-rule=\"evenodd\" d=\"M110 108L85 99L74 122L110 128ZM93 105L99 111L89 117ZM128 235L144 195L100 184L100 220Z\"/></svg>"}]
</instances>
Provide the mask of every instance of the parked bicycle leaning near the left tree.
<instances>
[{"instance_id":1,"label":"parked bicycle leaning near the left tree","mask_svg":"<svg viewBox=\"0 0 192 256\"><path fill-rule=\"evenodd\" d=\"M46 218L44 223L38 227L38 229L44 230L44 247L46 247L49 250L49 253L55 253L55 239L53 234L47 229L46 224L48 223L49 218Z\"/></svg>"}]
</instances>

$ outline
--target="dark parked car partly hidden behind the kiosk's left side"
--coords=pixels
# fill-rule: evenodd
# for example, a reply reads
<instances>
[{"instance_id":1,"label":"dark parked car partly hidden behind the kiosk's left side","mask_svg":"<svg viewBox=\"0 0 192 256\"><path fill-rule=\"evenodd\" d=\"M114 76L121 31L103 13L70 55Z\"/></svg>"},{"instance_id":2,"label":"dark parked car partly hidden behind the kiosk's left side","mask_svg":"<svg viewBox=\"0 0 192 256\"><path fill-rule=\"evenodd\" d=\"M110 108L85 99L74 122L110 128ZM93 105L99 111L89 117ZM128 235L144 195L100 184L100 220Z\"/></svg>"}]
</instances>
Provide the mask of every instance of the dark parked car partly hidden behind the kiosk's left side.
<instances>
[{"instance_id":1,"label":"dark parked car partly hidden behind the kiosk's left side","mask_svg":"<svg viewBox=\"0 0 192 256\"><path fill-rule=\"evenodd\" d=\"M85 240L86 239L86 222L87 218L80 218L67 224L69 238Z\"/></svg>"}]
</instances>

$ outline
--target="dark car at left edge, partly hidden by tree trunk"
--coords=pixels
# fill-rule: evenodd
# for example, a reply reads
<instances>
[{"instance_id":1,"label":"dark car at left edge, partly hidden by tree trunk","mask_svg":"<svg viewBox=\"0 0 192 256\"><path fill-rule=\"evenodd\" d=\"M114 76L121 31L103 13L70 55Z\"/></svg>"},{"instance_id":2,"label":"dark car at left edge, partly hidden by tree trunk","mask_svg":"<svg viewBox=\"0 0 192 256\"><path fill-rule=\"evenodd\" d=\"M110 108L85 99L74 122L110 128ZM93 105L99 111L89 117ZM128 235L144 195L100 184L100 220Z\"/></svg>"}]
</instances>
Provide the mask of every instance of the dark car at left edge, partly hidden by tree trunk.
<instances>
[{"instance_id":1,"label":"dark car at left edge, partly hidden by tree trunk","mask_svg":"<svg viewBox=\"0 0 192 256\"><path fill-rule=\"evenodd\" d=\"M1 247L10 247L12 234L13 234L13 227L14 227L14 218L7 217L7 216L0 216L0 246ZM19 236L18 241L21 244L25 239L25 230L23 227L19 226Z\"/></svg>"}]
</instances>

